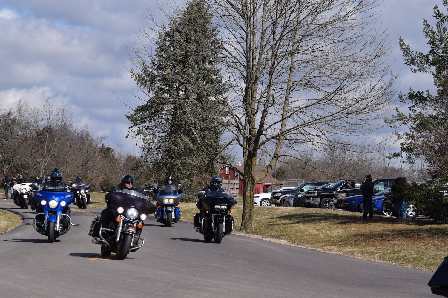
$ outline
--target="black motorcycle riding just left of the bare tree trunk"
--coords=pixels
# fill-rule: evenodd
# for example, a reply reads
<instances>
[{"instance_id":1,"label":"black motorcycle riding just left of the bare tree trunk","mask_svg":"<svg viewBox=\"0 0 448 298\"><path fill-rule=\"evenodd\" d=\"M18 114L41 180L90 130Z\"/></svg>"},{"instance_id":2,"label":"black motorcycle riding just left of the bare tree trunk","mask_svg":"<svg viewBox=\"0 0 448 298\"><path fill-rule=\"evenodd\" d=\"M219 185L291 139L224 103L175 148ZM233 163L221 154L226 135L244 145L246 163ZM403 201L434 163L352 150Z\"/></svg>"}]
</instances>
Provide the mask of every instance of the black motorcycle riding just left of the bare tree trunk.
<instances>
[{"instance_id":1,"label":"black motorcycle riding just left of the bare tree trunk","mask_svg":"<svg viewBox=\"0 0 448 298\"><path fill-rule=\"evenodd\" d=\"M222 187L212 187L202 199L205 213L196 213L193 216L193 226L197 232L204 235L204 240L215 243L221 243L225 235L229 235L235 226L232 212L232 206L237 201L230 192L230 189Z\"/></svg>"}]
</instances>

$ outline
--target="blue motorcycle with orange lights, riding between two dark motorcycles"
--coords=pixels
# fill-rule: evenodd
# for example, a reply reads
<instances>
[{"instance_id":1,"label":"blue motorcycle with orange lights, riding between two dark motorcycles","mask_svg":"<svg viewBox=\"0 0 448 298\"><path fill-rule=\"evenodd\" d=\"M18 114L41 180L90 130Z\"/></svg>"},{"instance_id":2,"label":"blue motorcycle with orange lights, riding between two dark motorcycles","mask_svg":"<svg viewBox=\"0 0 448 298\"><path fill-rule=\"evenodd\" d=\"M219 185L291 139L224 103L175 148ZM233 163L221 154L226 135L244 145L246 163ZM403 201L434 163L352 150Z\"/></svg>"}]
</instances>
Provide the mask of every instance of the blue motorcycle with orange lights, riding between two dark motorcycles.
<instances>
[{"instance_id":1,"label":"blue motorcycle with orange lights, riding between two dark motorcycles","mask_svg":"<svg viewBox=\"0 0 448 298\"><path fill-rule=\"evenodd\" d=\"M157 211L154 216L165 227L172 227L172 224L181 218L182 210L179 207L179 202L182 200L182 195L178 193L180 187L180 184L157 186L159 193L154 196L157 201Z\"/></svg>"}]
</instances>

